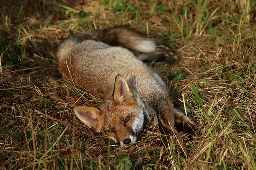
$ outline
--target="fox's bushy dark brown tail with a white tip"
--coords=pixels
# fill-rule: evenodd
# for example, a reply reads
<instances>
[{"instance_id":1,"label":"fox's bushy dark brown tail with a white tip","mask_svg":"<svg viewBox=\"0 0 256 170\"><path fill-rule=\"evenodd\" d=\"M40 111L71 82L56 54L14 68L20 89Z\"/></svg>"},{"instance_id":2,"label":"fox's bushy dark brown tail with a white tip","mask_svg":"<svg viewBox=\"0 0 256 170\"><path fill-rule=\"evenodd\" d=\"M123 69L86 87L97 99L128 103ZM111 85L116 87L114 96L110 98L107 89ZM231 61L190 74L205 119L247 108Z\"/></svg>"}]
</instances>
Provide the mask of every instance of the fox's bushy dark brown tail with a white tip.
<instances>
[{"instance_id":1,"label":"fox's bushy dark brown tail with a white tip","mask_svg":"<svg viewBox=\"0 0 256 170\"><path fill-rule=\"evenodd\" d=\"M67 49L87 39L102 41L112 46L121 46L141 53L149 53L156 49L153 39L126 27L85 31L66 39L61 46Z\"/></svg>"}]
</instances>

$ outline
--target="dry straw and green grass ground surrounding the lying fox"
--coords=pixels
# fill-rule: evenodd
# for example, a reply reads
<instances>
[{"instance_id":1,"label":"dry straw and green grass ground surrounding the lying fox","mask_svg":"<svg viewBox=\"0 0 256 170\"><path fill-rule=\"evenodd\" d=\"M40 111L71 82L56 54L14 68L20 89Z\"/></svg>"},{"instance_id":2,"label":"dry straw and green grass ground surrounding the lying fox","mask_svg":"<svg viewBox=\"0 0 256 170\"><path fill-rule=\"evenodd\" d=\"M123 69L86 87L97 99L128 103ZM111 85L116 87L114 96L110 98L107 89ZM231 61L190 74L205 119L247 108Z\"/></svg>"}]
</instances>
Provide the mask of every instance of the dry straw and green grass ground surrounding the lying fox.
<instances>
[{"instance_id":1,"label":"dry straw and green grass ground surrounding the lying fox","mask_svg":"<svg viewBox=\"0 0 256 170\"><path fill-rule=\"evenodd\" d=\"M0 2L0 169L256 169L255 5ZM62 78L56 48L72 34L113 25L145 31L180 57L149 65L200 130L185 141L188 158L175 137L161 146L165 136L155 126L147 125L136 145L120 147L74 116L75 97L85 106L102 99Z\"/></svg>"}]
</instances>

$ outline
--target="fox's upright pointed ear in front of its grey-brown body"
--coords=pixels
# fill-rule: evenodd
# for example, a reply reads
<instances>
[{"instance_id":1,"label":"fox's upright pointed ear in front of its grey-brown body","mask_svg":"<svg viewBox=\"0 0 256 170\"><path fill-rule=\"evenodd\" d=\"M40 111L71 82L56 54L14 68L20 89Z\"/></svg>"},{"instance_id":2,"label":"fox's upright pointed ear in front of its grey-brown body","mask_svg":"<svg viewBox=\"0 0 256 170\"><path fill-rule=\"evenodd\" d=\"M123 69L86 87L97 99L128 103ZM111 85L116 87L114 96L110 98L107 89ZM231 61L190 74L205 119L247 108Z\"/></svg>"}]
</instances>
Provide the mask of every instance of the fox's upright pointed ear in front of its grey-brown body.
<instances>
[{"instance_id":1,"label":"fox's upright pointed ear in front of its grey-brown body","mask_svg":"<svg viewBox=\"0 0 256 170\"><path fill-rule=\"evenodd\" d=\"M114 101L118 104L134 102L128 84L120 74L116 76L115 80Z\"/></svg>"}]
</instances>

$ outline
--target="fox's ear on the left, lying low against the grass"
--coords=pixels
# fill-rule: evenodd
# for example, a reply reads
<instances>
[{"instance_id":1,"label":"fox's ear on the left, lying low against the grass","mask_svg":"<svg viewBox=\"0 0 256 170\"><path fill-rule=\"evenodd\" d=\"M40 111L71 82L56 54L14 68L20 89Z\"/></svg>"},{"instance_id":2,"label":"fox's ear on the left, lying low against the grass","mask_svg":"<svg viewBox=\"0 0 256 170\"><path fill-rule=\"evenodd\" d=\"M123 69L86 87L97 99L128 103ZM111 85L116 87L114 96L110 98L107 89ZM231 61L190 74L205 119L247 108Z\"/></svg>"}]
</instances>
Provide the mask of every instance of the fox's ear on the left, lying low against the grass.
<instances>
[{"instance_id":1,"label":"fox's ear on the left, lying low against the grass","mask_svg":"<svg viewBox=\"0 0 256 170\"><path fill-rule=\"evenodd\" d=\"M88 127L97 131L101 116L100 111L95 107L75 106L73 107L77 117Z\"/></svg>"}]
</instances>

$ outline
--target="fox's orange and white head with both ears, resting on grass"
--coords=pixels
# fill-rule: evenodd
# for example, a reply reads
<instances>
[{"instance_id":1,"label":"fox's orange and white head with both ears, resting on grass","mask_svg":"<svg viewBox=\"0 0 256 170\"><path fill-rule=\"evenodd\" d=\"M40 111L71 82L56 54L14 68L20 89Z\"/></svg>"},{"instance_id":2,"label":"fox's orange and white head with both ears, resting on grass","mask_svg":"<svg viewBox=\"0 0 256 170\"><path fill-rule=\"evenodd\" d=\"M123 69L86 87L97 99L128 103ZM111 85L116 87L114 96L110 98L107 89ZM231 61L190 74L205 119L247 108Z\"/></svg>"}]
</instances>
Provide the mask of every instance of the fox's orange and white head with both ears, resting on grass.
<instances>
[{"instance_id":1,"label":"fox's orange and white head with both ears, resting on grass","mask_svg":"<svg viewBox=\"0 0 256 170\"><path fill-rule=\"evenodd\" d=\"M144 124L143 109L119 74L116 76L112 100L106 100L98 109L85 106L73 109L84 124L96 132L105 133L122 146L136 142Z\"/></svg>"}]
</instances>

